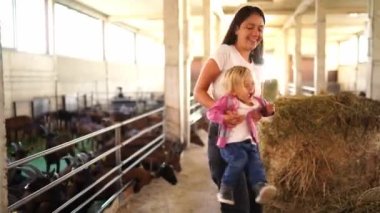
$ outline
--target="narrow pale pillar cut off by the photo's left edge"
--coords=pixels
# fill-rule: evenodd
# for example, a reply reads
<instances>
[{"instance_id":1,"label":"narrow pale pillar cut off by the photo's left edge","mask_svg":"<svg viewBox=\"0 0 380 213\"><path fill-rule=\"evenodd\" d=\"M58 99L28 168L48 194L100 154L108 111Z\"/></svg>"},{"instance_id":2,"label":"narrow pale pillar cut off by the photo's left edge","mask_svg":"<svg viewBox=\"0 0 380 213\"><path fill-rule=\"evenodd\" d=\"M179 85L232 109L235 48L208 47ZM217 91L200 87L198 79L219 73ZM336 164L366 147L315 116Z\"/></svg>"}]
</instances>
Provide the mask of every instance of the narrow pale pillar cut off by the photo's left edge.
<instances>
[{"instance_id":1,"label":"narrow pale pillar cut off by the photo's left edge","mask_svg":"<svg viewBox=\"0 0 380 213\"><path fill-rule=\"evenodd\" d=\"M4 117L4 71L3 71L3 48L1 46L0 29L0 212L7 212L7 147L5 140L5 117Z\"/></svg>"}]
</instances>

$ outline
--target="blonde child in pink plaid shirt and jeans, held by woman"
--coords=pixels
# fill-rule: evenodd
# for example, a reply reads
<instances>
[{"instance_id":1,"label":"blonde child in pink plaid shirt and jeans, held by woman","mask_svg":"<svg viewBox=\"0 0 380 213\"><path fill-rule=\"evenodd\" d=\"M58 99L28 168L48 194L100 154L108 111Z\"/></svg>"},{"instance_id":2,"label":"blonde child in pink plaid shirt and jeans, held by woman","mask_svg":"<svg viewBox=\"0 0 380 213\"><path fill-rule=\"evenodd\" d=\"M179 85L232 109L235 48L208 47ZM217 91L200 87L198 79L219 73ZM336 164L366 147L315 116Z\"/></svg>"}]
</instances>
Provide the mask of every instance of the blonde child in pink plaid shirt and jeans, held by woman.
<instances>
[{"instance_id":1,"label":"blonde child in pink plaid shirt and jeans, held by woman","mask_svg":"<svg viewBox=\"0 0 380 213\"><path fill-rule=\"evenodd\" d=\"M257 203L265 204L274 198L276 188L266 184L265 170L260 159L256 122L261 116L274 113L274 106L265 100L255 97L254 82L250 70L243 66L234 66L224 75L224 86L227 95L219 98L207 111L210 121L219 124L217 146L222 158L227 162L221 180L218 200L234 205L233 188L239 174L246 170ZM233 128L225 125L229 113L244 116Z\"/></svg>"}]
</instances>

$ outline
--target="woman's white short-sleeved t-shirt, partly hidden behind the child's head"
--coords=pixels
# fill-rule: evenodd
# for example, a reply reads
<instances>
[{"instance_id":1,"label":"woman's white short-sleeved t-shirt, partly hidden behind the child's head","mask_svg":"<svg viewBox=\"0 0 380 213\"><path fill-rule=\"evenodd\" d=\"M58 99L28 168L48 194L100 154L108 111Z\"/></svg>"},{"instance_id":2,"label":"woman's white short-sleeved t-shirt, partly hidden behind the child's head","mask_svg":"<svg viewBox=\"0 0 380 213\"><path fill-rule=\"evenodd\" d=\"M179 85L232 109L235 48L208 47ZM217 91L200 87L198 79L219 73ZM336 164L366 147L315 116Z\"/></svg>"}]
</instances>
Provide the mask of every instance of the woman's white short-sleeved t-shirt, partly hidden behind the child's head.
<instances>
[{"instance_id":1,"label":"woman's white short-sleeved t-shirt, partly hidden behind the child's head","mask_svg":"<svg viewBox=\"0 0 380 213\"><path fill-rule=\"evenodd\" d=\"M233 66L244 66L247 67L252 72L252 78L255 82L255 96L260 96L261 94L261 82L260 82L260 70L256 69L254 63L249 63L243 56L237 51L234 45L222 44L219 49L211 56L217 63L219 69L223 73ZM212 95L214 99L218 99L226 94L223 86L223 76L222 73L212 84Z\"/></svg>"}]
</instances>

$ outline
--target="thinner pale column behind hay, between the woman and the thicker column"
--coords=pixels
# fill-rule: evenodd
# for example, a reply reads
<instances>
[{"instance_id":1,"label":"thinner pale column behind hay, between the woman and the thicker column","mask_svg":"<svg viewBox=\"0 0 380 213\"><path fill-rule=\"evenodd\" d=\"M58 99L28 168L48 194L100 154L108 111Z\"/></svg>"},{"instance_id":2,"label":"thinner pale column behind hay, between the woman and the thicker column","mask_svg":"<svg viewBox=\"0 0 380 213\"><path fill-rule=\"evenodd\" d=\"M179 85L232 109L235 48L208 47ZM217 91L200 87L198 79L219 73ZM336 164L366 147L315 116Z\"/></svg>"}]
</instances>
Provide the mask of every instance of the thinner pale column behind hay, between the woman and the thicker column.
<instances>
[{"instance_id":1,"label":"thinner pale column behind hay, between the woman and the thicker column","mask_svg":"<svg viewBox=\"0 0 380 213\"><path fill-rule=\"evenodd\" d=\"M296 26L295 26L295 49L294 49L294 72L293 72L293 81L296 90L296 95L302 94L302 72L301 72L301 30L302 23L301 17L297 16L295 18Z\"/></svg>"}]
</instances>

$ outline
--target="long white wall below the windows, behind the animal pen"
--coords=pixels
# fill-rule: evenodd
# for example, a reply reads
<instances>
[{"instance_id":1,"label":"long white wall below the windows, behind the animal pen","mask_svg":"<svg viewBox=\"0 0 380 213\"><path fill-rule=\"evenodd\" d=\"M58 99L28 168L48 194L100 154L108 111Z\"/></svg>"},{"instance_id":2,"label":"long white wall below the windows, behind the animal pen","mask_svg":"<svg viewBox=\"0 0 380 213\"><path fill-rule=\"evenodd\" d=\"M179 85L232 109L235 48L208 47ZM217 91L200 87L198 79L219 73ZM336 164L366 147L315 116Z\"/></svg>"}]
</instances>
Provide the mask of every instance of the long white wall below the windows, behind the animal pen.
<instances>
[{"instance_id":1,"label":"long white wall below the windows, behind the animal pen","mask_svg":"<svg viewBox=\"0 0 380 213\"><path fill-rule=\"evenodd\" d=\"M116 64L62 56L37 55L3 49L5 117L30 115L30 100L57 95L100 94L104 98L116 95L116 87L124 92L163 92L162 65ZM24 101L24 102L23 102ZM55 110L55 103L51 103Z\"/></svg>"}]
</instances>

